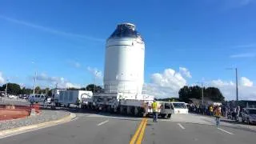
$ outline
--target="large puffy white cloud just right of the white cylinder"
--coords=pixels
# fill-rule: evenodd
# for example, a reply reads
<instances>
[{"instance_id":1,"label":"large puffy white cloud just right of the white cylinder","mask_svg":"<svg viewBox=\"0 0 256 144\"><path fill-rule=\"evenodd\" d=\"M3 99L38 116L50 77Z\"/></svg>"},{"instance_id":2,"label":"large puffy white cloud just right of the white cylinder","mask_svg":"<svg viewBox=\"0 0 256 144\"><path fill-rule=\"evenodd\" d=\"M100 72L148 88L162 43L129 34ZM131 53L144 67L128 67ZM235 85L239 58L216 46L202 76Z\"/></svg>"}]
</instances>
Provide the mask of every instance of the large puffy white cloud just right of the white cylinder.
<instances>
[{"instance_id":1,"label":"large puffy white cloud just right of the white cylinder","mask_svg":"<svg viewBox=\"0 0 256 144\"><path fill-rule=\"evenodd\" d=\"M178 90L186 85L186 78L173 69L166 69L162 74L152 74L150 80L146 84L146 93L156 98L178 97Z\"/></svg>"}]
</instances>

